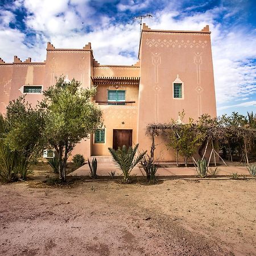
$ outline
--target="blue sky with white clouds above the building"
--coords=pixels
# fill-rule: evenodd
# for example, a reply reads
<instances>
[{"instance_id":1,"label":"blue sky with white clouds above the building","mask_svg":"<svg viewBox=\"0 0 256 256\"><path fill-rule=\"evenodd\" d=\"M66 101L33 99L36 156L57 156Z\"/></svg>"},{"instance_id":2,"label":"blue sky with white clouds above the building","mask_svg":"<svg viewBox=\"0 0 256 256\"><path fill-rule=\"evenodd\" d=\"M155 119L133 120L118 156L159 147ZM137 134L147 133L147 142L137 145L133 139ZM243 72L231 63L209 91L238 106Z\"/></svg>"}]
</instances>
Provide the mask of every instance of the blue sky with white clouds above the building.
<instances>
[{"instance_id":1,"label":"blue sky with white clouds above the building","mask_svg":"<svg viewBox=\"0 0 256 256\"><path fill-rule=\"evenodd\" d=\"M92 43L100 64L137 62L139 22L152 29L209 24L217 114L256 113L256 0L0 0L0 57L46 59L56 48Z\"/></svg>"}]
</instances>

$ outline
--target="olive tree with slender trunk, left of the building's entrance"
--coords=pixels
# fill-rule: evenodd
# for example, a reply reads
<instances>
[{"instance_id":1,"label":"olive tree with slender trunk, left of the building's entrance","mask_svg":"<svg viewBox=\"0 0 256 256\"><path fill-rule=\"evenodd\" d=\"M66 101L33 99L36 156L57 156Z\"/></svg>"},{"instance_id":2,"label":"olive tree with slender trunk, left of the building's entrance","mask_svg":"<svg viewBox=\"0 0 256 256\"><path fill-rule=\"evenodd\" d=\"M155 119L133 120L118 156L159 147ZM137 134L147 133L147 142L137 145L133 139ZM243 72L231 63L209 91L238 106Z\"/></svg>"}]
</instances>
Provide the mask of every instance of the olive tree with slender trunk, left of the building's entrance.
<instances>
[{"instance_id":1,"label":"olive tree with slender trunk, left of the building's entrance","mask_svg":"<svg viewBox=\"0 0 256 256\"><path fill-rule=\"evenodd\" d=\"M101 110L91 102L96 88L83 89L73 79L61 76L43 92L42 108L46 112L45 136L59 158L59 177L66 179L68 155L82 139L88 139L101 123Z\"/></svg>"}]
</instances>

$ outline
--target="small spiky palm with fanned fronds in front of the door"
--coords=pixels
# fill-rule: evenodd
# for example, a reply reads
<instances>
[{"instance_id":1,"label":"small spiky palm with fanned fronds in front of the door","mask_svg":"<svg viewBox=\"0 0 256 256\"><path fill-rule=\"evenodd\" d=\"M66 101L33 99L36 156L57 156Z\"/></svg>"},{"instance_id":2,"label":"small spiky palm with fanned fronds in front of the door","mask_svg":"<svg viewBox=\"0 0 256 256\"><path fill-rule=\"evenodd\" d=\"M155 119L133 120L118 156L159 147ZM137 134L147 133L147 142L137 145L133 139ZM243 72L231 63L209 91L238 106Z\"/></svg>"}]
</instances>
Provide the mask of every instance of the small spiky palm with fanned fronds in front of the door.
<instances>
[{"instance_id":1,"label":"small spiky palm with fanned fronds in front of the door","mask_svg":"<svg viewBox=\"0 0 256 256\"><path fill-rule=\"evenodd\" d=\"M147 151L139 153L136 155L139 144L136 144L135 147L127 148L123 145L122 148L118 148L118 150L114 150L114 148L109 147L109 152L113 157L115 164L122 170L123 172L123 181L125 183L130 180L130 172L133 170L134 166L138 164Z\"/></svg>"}]
</instances>

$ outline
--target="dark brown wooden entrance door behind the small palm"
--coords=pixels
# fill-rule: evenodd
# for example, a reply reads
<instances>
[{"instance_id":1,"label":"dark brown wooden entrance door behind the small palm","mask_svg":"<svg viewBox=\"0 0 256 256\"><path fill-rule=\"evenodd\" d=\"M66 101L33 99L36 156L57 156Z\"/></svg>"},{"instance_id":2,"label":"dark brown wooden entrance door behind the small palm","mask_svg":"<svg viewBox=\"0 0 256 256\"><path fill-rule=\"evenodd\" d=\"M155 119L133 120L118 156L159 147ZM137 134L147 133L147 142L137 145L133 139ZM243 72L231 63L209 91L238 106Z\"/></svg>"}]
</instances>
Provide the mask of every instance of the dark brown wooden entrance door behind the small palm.
<instances>
[{"instance_id":1,"label":"dark brown wooden entrance door behind the small palm","mask_svg":"<svg viewBox=\"0 0 256 256\"><path fill-rule=\"evenodd\" d=\"M127 148L133 144L133 130L113 130L113 148L117 150L118 147L125 145Z\"/></svg>"}]
</instances>

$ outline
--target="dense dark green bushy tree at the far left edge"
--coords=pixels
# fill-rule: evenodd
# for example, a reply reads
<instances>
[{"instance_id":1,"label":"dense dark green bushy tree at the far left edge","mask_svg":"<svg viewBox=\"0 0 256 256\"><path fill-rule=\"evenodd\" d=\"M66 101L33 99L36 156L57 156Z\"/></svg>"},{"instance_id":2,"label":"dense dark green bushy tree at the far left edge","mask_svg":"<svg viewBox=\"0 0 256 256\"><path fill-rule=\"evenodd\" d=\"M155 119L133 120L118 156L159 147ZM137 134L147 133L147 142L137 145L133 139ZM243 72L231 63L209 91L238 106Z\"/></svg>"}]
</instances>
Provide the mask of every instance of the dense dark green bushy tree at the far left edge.
<instances>
[{"instance_id":1,"label":"dense dark green bushy tree at the far left edge","mask_svg":"<svg viewBox=\"0 0 256 256\"><path fill-rule=\"evenodd\" d=\"M5 118L1 118L5 126L1 129L1 163L5 174L19 173L26 179L28 168L42 155L44 112L38 106L33 108L24 96L10 101L6 110Z\"/></svg>"}]
</instances>

